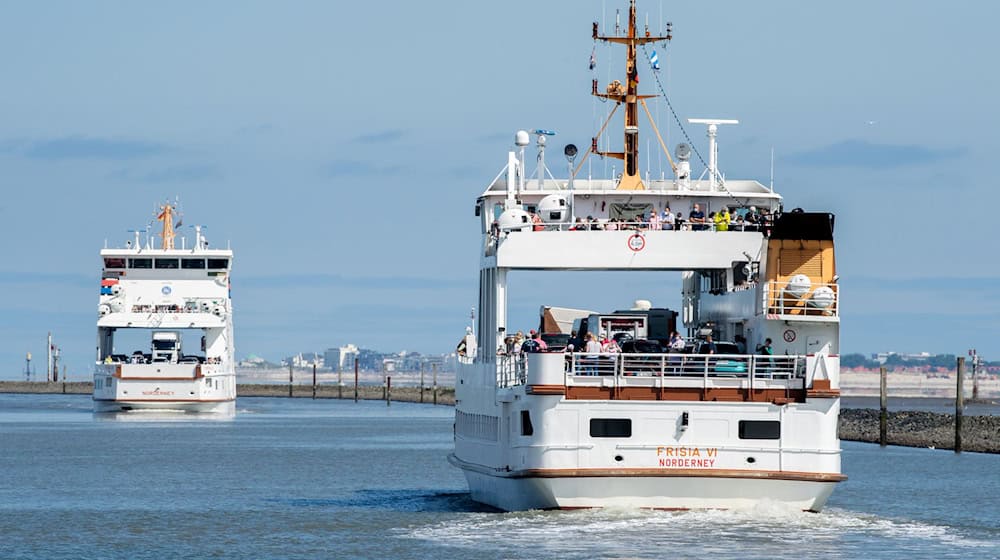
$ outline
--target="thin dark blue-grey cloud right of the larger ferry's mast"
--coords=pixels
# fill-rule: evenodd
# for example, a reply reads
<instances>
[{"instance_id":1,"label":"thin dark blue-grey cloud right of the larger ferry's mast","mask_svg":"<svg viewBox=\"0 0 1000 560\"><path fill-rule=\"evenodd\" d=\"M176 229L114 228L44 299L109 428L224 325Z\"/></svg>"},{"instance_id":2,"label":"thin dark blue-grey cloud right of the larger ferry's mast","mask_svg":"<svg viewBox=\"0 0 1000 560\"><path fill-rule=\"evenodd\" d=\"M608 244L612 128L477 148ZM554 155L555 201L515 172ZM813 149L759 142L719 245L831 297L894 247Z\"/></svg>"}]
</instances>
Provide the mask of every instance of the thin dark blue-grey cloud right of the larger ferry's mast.
<instances>
[{"instance_id":1,"label":"thin dark blue-grey cloud right of the larger ferry's mast","mask_svg":"<svg viewBox=\"0 0 1000 560\"><path fill-rule=\"evenodd\" d=\"M844 140L782 158L807 167L863 167L894 169L934 163L965 155L965 148L934 149L914 144L874 144L866 140Z\"/></svg>"}]
</instances>

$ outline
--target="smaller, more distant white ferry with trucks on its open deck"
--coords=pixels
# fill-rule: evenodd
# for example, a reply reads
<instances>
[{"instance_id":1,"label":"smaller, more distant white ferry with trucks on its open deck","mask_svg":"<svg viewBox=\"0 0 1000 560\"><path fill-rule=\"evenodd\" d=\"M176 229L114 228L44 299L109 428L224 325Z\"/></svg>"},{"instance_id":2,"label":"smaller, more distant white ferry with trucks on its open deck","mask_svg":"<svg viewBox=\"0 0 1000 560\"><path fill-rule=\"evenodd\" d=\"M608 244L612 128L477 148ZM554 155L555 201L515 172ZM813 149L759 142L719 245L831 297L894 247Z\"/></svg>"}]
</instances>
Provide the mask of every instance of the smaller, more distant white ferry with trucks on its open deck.
<instances>
[{"instance_id":1,"label":"smaller, more distant white ferry with trucks on its open deck","mask_svg":"<svg viewBox=\"0 0 1000 560\"><path fill-rule=\"evenodd\" d=\"M97 306L94 410L233 414L236 369L229 273L233 252L201 227L175 246L176 208L161 206L160 248L140 233L104 249Z\"/></svg>"}]
</instances>

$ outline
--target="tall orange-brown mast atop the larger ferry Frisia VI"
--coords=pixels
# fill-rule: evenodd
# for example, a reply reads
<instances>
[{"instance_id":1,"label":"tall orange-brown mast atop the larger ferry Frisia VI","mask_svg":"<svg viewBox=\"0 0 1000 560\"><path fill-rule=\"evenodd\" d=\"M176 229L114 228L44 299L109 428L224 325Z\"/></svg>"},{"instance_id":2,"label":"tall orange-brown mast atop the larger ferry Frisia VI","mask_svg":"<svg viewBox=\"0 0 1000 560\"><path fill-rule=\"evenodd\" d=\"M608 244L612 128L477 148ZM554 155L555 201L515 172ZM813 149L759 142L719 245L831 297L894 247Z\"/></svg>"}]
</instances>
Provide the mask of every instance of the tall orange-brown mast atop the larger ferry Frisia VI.
<instances>
[{"instance_id":1,"label":"tall orange-brown mast atop the larger ferry Frisia VI","mask_svg":"<svg viewBox=\"0 0 1000 560\"><path fill-rule=\"evenodd\" d=\"M645 36L639 37L636 32L635 23L635 0L630 0L628 10L628 30L625 36L601 36L597 32L597 22L594 22L594 40L605 41L607 43L618 43L625 45L625 87L621 82L615 80L608 85L606 93L597 91L597 80L593 82L593 95L614 101L616 104L625 104L625 149L621 152L602 152L597 148L597 138L591 142L590 151L600 155L613 157L625 162L622 178L618 182L619 190L644 190L642 176L639 172L639 119L638 103L642 99L656 97L655 95L639 95L639 76L636 69L636 47L646 43L657 41L669 41L671 39L668 29L667 35L663 37L653 37L649 34L647 27Z\"/></svg>"}]
</instances>

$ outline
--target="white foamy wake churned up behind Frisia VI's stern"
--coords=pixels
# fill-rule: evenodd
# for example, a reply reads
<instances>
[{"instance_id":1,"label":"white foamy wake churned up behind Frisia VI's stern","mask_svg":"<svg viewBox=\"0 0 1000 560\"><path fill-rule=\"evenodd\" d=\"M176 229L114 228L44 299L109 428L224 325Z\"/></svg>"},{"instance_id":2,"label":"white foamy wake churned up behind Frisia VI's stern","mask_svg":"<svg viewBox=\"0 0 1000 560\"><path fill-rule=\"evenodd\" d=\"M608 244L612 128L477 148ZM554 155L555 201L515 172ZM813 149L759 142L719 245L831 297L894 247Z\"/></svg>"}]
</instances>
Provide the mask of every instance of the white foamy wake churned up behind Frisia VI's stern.
<instances>
[{"instance_id":1,"label":"white foamy wake churned up behind Frisia VI's stern","mask_svg":"<svg viewBox=\"0 0 1000 560\"><path fill-rule=\"evenodd\" d=\"M835 508L807 513L777 502L761 502L742 510L471 513L400 530L399 536L463 548L502 546L543 556L596 553L618 558L648 557L651 551L664 547L685 550L685 554L739 553L763 558L785 556L789 545L808 546L813 554L852 551L869 557L895 557L902 550L937 546L942 550L997 546L956 534L947 526Z\"/></svg>"}]
</instances>

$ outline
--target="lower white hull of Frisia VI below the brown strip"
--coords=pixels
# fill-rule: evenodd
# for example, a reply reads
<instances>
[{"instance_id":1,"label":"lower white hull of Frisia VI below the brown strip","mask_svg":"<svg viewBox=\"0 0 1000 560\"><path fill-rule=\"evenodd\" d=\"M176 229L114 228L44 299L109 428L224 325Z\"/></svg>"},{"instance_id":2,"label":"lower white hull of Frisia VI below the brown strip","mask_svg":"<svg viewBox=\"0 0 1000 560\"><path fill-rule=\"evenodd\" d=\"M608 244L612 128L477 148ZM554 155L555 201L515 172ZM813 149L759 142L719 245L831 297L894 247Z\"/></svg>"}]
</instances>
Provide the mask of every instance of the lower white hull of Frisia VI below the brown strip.
<instances>
[{"instance_id":1,"label":"lower white hull of Frisia VI below the brown strip","mask_svg":"<svg viewBox=\"0 0 1000 560\"><path fill-rule=\"evenodd\" d=\"M472 499L505 511L528 509L646 508L664 510L748 509L761 502L819 512L841 478L792 480L760 476L648 476L618 474L490 474L449 460L462 469ZM758 473L759 474L759 473Z\"/></svg>"}]
</instances>

